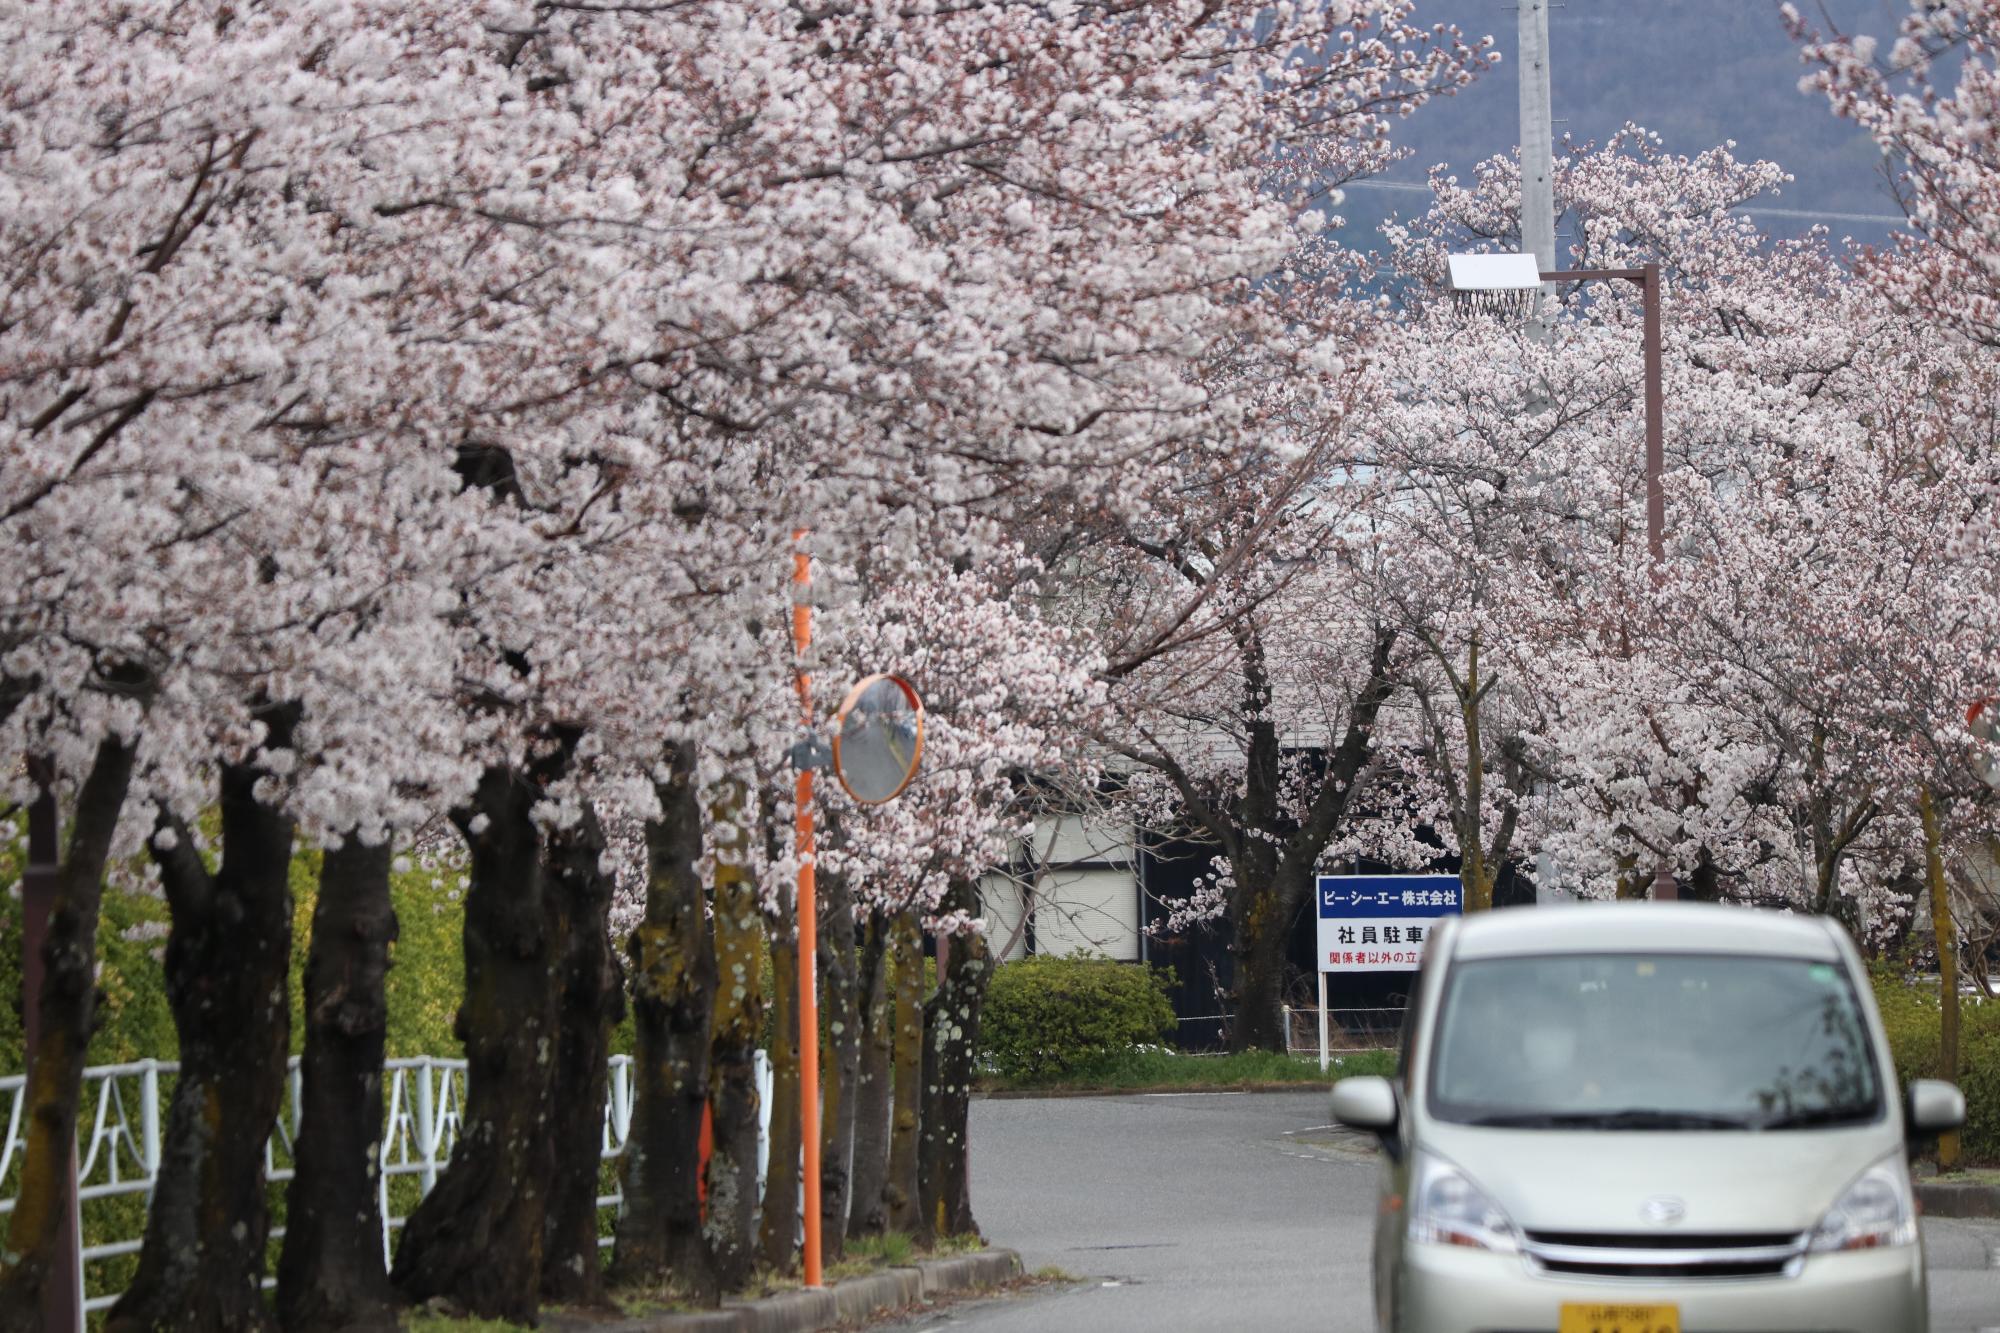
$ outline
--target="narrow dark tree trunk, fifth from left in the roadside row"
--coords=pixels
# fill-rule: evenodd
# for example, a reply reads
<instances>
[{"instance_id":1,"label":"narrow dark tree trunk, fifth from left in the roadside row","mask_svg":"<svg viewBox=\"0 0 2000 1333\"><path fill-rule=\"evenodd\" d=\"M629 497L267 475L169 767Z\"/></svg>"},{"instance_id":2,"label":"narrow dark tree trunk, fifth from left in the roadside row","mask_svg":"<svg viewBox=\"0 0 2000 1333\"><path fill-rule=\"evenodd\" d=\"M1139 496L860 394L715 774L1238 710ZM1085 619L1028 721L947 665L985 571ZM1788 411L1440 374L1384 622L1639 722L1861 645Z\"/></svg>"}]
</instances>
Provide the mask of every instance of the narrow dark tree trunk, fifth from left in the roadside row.
<instances>
[{"instance_id":1,"label":"narrow dark tree trunk, fifth from left in the roadside row","mask_svg":"<svg viewBox=\"0 0 2000 1333\"><path fill-rule=\"evenodd\" d=\"M604 1093L612 1029L624 1017L624 973L612 949L612 893L604 873L604 829L588 805L548 845L550 937L562 967L560 1035L550 1103L556 1173L542 1239L542 1299L604 1303L598 1249L598 1185L604 1171Z\"/></svg>"}]
</instances>

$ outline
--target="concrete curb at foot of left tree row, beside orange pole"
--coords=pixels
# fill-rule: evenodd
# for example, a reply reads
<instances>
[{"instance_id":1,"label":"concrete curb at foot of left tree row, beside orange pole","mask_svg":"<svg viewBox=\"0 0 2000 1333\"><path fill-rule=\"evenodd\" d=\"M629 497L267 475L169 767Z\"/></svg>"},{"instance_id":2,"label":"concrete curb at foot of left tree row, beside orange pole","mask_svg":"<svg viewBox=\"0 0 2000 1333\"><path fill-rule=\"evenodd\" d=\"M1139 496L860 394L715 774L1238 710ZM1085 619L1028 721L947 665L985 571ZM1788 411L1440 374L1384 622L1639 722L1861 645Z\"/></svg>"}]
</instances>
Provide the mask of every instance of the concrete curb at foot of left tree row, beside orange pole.
<instances>
[{"instance_id":1,"label":"concrete curb at foot of left tree row, beside orange pole","mask_svg":"<svg viewBox=\"0 0 2000 1333\"><path fill-rule=\"evenodd\" d=\"M982 1249L918 1259L910 1267L848 1277L818 1291L800 1287L758 1301L724 1301L722 1309L638 1319L544 1315L542 1325L558 1333L818 1333L834 1325L866 1323L942 1295L998 1287L1020 1277L1020 1255L1012 1249Z\"/></svg>"}]
</instances>

